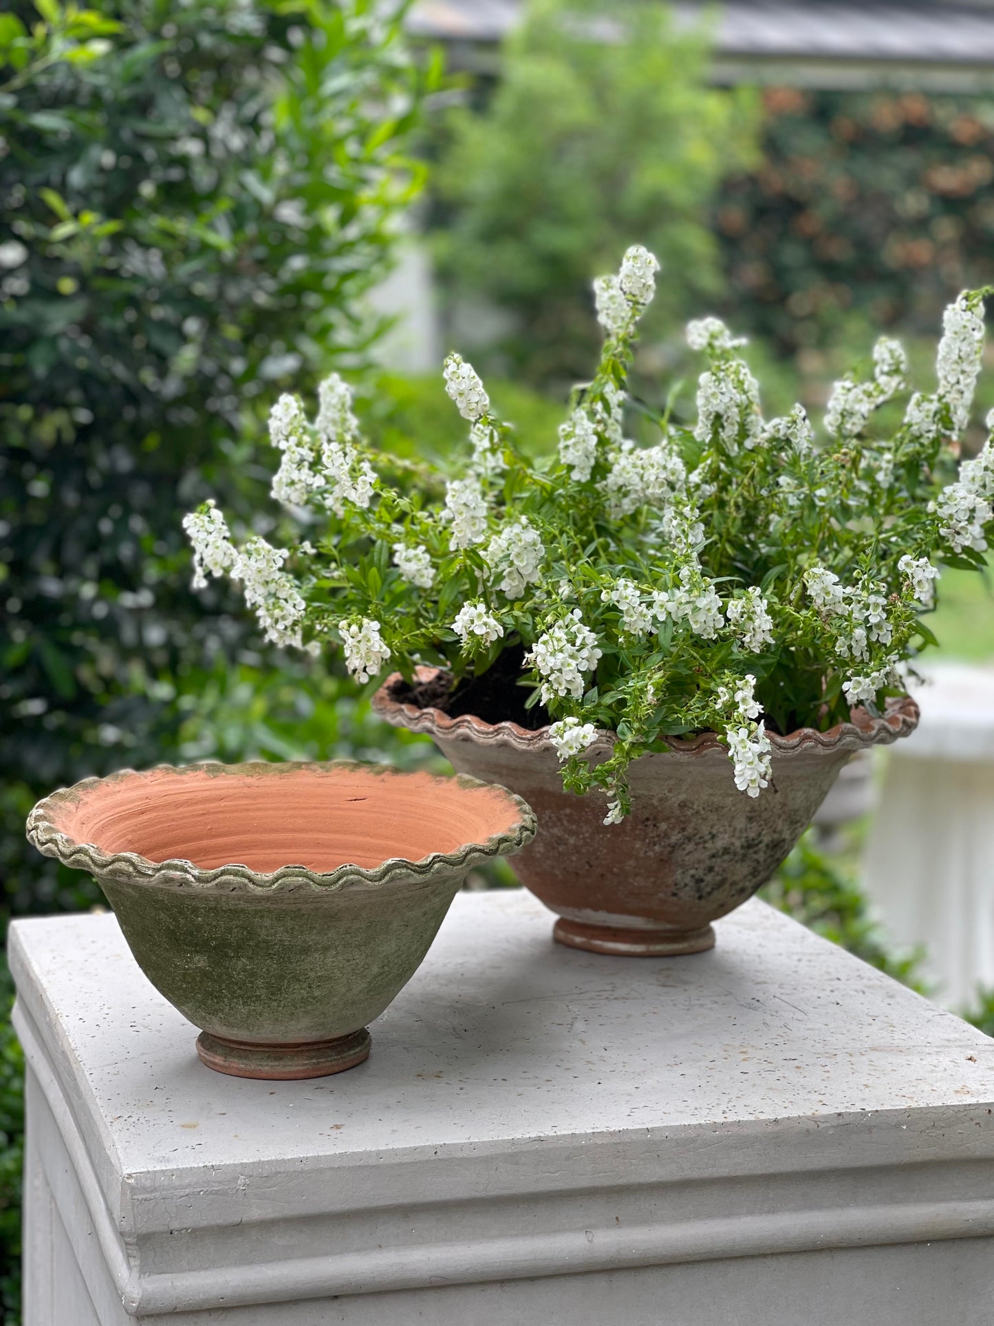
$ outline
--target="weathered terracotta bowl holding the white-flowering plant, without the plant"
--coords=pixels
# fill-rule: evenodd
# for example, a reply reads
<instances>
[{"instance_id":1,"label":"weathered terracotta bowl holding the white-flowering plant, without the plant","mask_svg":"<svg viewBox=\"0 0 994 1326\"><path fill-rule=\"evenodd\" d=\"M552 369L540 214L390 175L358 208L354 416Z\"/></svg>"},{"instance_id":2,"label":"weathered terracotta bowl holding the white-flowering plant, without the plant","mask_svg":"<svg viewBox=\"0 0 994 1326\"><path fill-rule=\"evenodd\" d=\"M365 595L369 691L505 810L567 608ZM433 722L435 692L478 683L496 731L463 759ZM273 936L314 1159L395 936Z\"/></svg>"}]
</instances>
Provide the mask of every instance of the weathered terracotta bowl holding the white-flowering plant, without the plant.
<instances>
[{"instance_id":1,"label":"weathered terracotta bowl holding the white-flowering plant, without the plant","mask_svg":"<svg viewBox=\"0 0 994 1326\"><path fill-rule=\"evenodd\" d=\"M850 756L912 732L918 712L904 697L881 719L855 711L851 723L830 732L771 733L773 785L757 798L736 788L728 752L713 733L675 739L668 752L632 764L632 814L606 826L603 797L563 792L546 728L451 719L398 703L392 684L391 678L374 699L382 717L429 733L459 772L502 784L534 809L538 835L514 869L559 915L555 937L630 956L710 948L710 922L770 878ZM606 758L612 741L600 733L591 757Z\"/></svg>"}]
</instances>

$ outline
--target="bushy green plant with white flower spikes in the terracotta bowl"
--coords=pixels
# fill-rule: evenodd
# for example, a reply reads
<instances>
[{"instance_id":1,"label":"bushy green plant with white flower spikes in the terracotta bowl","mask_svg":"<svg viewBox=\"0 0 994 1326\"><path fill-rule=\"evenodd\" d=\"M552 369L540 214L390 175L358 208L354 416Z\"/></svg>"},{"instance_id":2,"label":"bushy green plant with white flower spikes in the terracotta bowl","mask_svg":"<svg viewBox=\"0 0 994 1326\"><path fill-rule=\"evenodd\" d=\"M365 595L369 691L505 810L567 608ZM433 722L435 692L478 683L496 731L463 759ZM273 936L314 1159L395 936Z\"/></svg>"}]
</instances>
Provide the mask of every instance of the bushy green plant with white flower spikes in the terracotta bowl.
<instances>
[{"instance_id":1,"label":"bushy green plant with white flower spikes in the terracotta bowl","mask_svg":"<svg viewBox=\"0 0 994 1326\"><path fill-rule=\"evenodd\" d=\"M183 522L193 585L229 575L268 640L339 647L359 683L419 663L478 675L512 651L513 699L542 707L565 785L600 789L606 823L631 809L632 760L701 731L722 739L745 796L769 794L769 732L879 712L932 642L942 564L983 565L994 442L956 457L987 292L946 309L932 390L912 387L884 337L820 422L799 404L766 419L744 338L702 317L687 328L702 357L693 399L651 435L643 411L636 440L627 373L659 271L632 245L594 281L600 362L538 461L459 354L443 385L468 435L444 473L375 456L337 374L313 420L280 396L272 497L301 537L236 541L205 503Z\"/></svg>"}]
</instances>

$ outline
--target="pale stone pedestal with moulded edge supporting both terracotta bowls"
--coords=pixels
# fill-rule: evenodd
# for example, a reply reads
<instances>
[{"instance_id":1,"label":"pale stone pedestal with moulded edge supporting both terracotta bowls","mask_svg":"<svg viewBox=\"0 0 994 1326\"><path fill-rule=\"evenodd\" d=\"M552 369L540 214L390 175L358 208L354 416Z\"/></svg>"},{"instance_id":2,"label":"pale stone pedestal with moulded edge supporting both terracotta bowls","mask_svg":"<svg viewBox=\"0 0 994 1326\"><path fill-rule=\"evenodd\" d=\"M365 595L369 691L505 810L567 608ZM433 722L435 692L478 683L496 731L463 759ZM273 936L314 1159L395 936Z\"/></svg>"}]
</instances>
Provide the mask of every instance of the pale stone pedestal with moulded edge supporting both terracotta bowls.
<instances>
[{"instance_id":1,"label":"pale stone pedestal with moulded edge supporting both terracotta bowls","mask_svg":"<svg viewBox=\"0 0 994 1326\"><path fill-rule=\"evenodd\" d=\"M460 895L368 1062L282 1083L113 916L19 922L25 1326L990 1326L994 1041L758 902L550 934Z\"/></svg>"}]
</instances>

